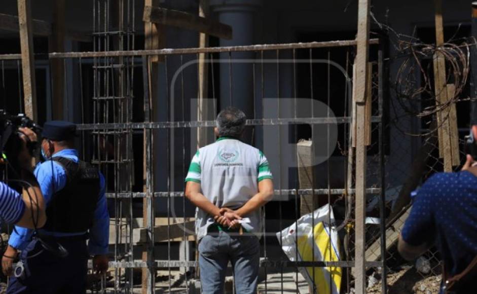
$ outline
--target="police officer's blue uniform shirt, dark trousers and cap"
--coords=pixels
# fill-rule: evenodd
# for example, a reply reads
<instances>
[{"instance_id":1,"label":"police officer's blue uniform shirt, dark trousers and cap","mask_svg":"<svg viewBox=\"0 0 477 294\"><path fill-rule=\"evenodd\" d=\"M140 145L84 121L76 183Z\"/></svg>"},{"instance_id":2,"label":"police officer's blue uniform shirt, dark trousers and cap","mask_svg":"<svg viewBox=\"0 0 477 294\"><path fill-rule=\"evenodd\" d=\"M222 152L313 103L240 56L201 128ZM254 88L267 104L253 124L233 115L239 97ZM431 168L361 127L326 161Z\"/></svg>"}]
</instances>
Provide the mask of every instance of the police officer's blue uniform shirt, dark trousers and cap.
<instances>
[{"instance_id":1,"label":"police officer's blue uniform shirt, dark trousers and cap","mask_svg":"<svg viewBox=\"0 0 477 294\"><path fill-rule=\"evenodd\" d=\"M50 134L51 126L49 128L48 124L57 126L56 123L45 124L44 137L55 139L58 138L58 136L55 137L55 134L59 132L59 137L64 138L71 132L72 129L69 126L70 129L65 131L63 122L60 122L60 127L53 128L53 134ZM76 130L76 126L74 129ZM65 132L65 134L61 132ZM70 185L67 168L58 162L58 159L74 164L80 162L76 150L64 149L53 154L51 160L36 166L34 174L44 195L47 217L49 218L46 227L38 230L38 235L48 245L55 247L60 244L68 254L59 256L55 250L44 250L41 242L37 238L32 238L33 230L16 227L9 239L9 245L22 250L20 260L25 264L25 273L20 278L12 277L9 280L7 293L84 293L86 292L88 256L108 252L109 214L105 198L105 180L101 173L97 172L99 188L97 198L95 198L97 201L94 204L95 207L93 207L94 211L91 211L92 223L86 227L85 225L82 225L83 227L76 226L76 228L88 229L67 232L67 230L64 230L65 219L59 219L62 220L61 224L52 222L52 219L58 220L55 219L56 216L54 215L57 210L48 212L48 209L54 205L58 206L57 198L68 196L58 195L58 193L67 190L68 185ZM86 198L87 195L83 196ZM58 213L61 214L62 211L58 209ZM68 213L68 208L66 213ZM71 213L71 208L69 208L69 213ZM87 212L85 211L84 214L86 215ZM48 225L48 222L50 222L50 225ZM57 228L57 226L58 231L52 229ZM74 224L69 226L74 226ZM89 241L86 245L87 238L89 238Z\"/></svg>"}]
</instances>

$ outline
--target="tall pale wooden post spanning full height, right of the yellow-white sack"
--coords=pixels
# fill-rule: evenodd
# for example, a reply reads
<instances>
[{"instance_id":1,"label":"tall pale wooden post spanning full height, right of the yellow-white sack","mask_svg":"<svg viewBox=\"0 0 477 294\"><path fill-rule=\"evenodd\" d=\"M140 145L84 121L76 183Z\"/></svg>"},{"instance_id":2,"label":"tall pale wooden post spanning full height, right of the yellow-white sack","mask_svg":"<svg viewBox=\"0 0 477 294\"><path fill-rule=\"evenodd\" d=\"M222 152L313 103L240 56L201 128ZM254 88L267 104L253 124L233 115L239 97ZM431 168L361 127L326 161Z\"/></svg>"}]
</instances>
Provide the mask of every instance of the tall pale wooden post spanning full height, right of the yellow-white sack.
<instances>
[{"instance_id":1,"label":"tall pale wooden post spanning full height, right of the yellow-white sack","mask_svg":"<svg viewBox=\"0 0 477 294\"><path fill-rule=\"evenodd\" d=\"M358 34L356 37L356 76L353 77L355 83L356 99L356 205L355 205L355 249L354 267L356 272L355 289L356 294L365 293L365 200L366 200L366 144L365 144L365 113L366 99L370 95L366 94L367 71L369 58L369 31L370 31L370 1L358 1Z\"/></svg>"}]
</instances>

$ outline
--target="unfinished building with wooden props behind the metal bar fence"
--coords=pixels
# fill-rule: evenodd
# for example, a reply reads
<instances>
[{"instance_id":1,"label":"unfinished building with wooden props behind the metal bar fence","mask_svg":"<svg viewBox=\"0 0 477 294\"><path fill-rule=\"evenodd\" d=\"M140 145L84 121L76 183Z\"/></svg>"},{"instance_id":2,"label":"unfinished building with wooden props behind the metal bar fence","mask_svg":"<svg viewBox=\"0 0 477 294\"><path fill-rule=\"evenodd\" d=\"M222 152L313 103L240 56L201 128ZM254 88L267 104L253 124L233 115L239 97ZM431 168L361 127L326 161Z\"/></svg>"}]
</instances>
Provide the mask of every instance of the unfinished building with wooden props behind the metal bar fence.
<instances>
[{"instance_id":1,"label":"unfinished building with wooden props behind the metal bar fence","mask_svg":"<svg viewBox=\"0 0 477 294\"><path fill-rule=\"evenodd\" d=\"M470 102L448 101L471 96L468 59L456 61L460 80L449 81L444 57L423 57L424 67L438 64L429 82L402 67L406 48L394 33L437 46L462 42L471 35L469 3L3 2L0 108L40 124L77 123L81 156L106 178L111 262L106 278L91 280L92 292L200 291L184 178L229 105L247 115L243 140L267 154L274 174L260 293L318 293L320 268L340 268L340 293L398 291L406 273L416 292L436 288L423 282L441 274L435 249L416 269L395 244L411 192L464 159ZM403 96L434 81L438 103L449 107L419 116L435 105L427 92L417 102ZM435 124L446 125L432 132ZM286 255L282 230L326 204L339 260Z\"/></svg>"}]
</instances>

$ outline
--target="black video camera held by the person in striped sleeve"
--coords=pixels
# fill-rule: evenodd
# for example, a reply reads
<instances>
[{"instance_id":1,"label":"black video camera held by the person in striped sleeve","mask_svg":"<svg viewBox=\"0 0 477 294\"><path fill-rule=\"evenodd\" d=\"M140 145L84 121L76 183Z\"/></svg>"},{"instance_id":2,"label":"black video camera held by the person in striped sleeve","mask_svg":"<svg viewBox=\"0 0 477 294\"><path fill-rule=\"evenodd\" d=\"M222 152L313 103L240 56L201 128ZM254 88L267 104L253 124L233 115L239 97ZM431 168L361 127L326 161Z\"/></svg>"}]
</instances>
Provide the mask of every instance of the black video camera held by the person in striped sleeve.
<instances>
[{"instance_id":1,"label":"black video camera held by the person in striped sleeve","mask_svg":"<svg viewBox=\"0 0 477 294\"><path fill-rule=\"evenodd\" d=\"M2 157L7 159L11 168L18 171L18 155L22 150L22 134L18 128L26 127L33 130L38 136L42 128L35 124L24 114L10 115L3 109L0 109L0 152ZM39 136L40 137L40 136ZM31 156L34 156L38 147L38 142L27 141L26 146Z\"/></svg>"}]
</instances>

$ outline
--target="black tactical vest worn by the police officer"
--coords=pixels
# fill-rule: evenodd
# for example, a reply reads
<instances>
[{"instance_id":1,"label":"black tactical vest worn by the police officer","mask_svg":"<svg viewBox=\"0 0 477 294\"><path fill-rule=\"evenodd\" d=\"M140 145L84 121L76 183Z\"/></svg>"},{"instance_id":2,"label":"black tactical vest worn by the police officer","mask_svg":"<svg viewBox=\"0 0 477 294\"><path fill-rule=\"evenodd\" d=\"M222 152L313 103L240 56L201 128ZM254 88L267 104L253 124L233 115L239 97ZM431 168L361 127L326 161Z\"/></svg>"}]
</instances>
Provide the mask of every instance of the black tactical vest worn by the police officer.
<instances>
[{"instance_id":1,"label":"black tactical vest worn by the police officer","mask_svg":"<svg viewBox=\"0 0 477 294\"><path fill-rule=\"evenodd\" d=\"M53 160L64 168L66 185L55 192L48 203L43 229L61 233L85 232L93 226L99 198L98 169L84 161L76 163L64 157Z\"/></svg>"}]
</instances>

